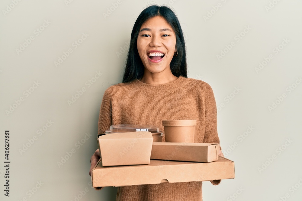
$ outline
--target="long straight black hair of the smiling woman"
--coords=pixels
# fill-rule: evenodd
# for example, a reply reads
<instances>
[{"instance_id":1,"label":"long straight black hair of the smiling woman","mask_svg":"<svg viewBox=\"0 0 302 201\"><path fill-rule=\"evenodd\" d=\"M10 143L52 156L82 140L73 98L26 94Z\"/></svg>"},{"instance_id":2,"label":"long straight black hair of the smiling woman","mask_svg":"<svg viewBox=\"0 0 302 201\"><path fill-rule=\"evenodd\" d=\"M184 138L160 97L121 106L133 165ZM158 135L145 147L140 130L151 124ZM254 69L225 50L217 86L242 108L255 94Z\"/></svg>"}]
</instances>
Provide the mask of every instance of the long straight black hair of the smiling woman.
<instances>
[{"instance_id":1,"label":"long straight black hair of the smiling woman","mask_svg":"<svg viewBox=\"0 0 302 201\"><path fill-rule=\"evenodd\" d=\"M176 77L188 77L185 39L178 18L176 17L175 13L167 6L151 5L140 13L133 26L123 83L143 77L145 67L142 60L140 59L140 55L138 54L137 37L142 24L148 19L155 16L163 17L170 24L176 34L176 49L178 51L178 55L173 57L170 63L172 74Z\"/></svg>"}]
</instances>

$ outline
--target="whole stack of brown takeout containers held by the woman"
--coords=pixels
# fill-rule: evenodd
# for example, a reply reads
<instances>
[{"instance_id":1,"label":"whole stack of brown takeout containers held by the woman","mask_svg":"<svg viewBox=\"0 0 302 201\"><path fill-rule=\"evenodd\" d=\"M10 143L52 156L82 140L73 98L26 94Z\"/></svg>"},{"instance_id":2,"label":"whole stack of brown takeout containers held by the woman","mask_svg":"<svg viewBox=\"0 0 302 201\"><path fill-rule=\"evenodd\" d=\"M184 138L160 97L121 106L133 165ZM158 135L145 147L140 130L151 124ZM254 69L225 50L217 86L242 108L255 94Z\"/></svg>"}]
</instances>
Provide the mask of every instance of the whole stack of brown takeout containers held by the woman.
<instances>
[{"instance_id":1,"label":"whole stack of brown takeout containers held by the woman","mask_svg":"<svg viewBox=\"0 0 302 201\"><path fill-rule=\"evenodd\" d=\"M194 143L196 120L163 120L162 125L165 142L158 127L146 125L112 125L99 134L101 160L92 170L92 186L235 177L234 162L218 156L219 144Z\"/></svg>"}]
</instances>

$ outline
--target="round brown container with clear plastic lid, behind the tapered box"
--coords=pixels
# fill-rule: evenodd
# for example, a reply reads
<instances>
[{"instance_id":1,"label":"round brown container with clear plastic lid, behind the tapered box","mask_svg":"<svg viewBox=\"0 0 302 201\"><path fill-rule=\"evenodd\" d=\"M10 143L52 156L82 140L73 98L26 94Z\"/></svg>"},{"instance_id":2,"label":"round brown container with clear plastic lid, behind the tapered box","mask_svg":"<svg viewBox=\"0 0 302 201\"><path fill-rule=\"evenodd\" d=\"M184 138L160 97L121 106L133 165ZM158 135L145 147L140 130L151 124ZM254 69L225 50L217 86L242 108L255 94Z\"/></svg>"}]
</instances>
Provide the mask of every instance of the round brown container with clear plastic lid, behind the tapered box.
<instances>
[{"instance_id":1,"label":"round brown container with clear plastic lid, behind the tapered box","mask_svg":"<svg viewBox=\"0 0 302 201\"><path fill-rule=\"evenodd\" d=\"M110 126L110 130L106 130L105 133L128 133L136 131L149 131L152 133L153 142L162 142L163 133L155 126L119 124Z\"/></svg>"}]
</instances>

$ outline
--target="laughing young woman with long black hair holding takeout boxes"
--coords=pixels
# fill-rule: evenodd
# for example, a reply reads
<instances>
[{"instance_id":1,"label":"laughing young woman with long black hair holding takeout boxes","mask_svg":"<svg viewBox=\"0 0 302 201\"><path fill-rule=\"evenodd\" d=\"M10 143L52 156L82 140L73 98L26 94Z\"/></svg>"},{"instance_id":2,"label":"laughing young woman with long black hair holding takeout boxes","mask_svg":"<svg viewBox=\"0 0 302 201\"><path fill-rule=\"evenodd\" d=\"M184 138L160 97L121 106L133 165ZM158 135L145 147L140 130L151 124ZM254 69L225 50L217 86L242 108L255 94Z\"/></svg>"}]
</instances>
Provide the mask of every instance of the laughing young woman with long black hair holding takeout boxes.
<instances>
[{"instance_id":1,"label":"laughing young woman with long black hair holding takeout boxes","mask_svg":"<svg viewBox=\"0 0 302 201\"><path fill-rule=\"evenodd\" d=\"M219 143L212 88L201 80L187 78L185 40L179 21L170 8L152 5L140 13L133 26L123 83L104 92L98 133L113 124L154 125L163 130L163 119L196 119L194 142ZM99 154L96 150L91 157L90 175ZM219 155L223 156L221 151ZM220 180L211 183L217 185ZM117 200L199 201L201 184L118 187Z\"/></svg>"}]
</instances>

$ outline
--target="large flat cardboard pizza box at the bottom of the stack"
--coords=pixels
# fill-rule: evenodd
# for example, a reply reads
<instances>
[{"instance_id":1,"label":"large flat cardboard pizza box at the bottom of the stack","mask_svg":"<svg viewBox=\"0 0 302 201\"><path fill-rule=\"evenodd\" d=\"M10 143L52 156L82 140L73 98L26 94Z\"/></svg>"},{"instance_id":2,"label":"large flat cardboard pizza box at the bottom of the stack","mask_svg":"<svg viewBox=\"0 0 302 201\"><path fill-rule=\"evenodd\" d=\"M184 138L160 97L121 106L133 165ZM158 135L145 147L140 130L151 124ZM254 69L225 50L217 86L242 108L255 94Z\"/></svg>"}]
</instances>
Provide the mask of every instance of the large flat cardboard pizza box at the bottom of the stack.
<instances>
[{"instance_id":1,"label":"large flat cardboard pizza box at the bottom of the stack","mask_svg":"<svg viewBox=\"0 0 302 201\"><path fill-rule=\"evenodd\" d=\"M92 170L93 187L235 178L234 162L220 156L210 163L151 159L149 165L104 167L100 161Z\"/></svg>"}]
</instances>

